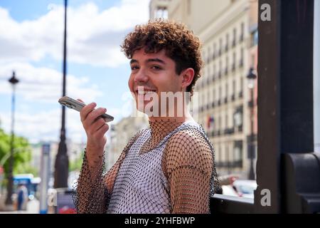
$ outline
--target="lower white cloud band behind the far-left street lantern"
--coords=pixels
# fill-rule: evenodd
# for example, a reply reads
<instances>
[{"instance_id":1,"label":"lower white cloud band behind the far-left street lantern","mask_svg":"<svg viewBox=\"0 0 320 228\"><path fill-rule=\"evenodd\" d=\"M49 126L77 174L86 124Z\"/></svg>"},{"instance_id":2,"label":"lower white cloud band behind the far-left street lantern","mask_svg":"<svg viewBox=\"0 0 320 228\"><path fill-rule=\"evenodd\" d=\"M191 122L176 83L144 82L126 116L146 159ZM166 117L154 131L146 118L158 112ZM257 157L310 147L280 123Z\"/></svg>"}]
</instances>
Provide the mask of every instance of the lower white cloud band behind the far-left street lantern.
<instances>
[{"instance_id":1,"label":"lower white cloud band behind the far-left street lantern","mask_svg":"<svg viewBox=\"0 0 320 228\"><path fill-rule=\"evenodd\" d=\"M0 63L0 94L11 94L9 83L4 79L11 76L12 69L19 73L17 76L21 83L18 83L17 93L24 99L33 103L57 103L62 94L62 74L50 68L36 68L29 63ZM96 100L102 96L102 91L97 85L88 83L88 77L67 76L68 95L73 98L87 98Z\"/></svg>"}]
</instances>

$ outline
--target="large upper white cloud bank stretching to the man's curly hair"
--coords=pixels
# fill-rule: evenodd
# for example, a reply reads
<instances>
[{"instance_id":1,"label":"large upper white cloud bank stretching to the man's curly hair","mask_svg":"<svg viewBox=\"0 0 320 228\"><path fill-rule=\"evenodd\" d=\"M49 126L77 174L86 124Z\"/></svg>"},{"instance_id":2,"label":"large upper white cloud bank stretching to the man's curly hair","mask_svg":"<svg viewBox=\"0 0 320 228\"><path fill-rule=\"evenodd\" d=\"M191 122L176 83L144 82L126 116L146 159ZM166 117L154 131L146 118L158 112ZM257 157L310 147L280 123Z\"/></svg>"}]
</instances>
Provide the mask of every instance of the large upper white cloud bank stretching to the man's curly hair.
<instances>
[{"instance_id":1,"label":"large upper white cloud bank stretching to the man's curly hair","mask_svg":"<svg viewBox=\"0 0 320 228\"><path fill-rule=\"evenodd\" d=\"M99 11L93 3L68 9L68 61L116 67L126 63L119 45L134 25L149 19L149 0L123 0ZM14 21L0 7L0 62L39 61L63 57L63 6L49 4L48 14Z\"/></svg>"}]
</instances>

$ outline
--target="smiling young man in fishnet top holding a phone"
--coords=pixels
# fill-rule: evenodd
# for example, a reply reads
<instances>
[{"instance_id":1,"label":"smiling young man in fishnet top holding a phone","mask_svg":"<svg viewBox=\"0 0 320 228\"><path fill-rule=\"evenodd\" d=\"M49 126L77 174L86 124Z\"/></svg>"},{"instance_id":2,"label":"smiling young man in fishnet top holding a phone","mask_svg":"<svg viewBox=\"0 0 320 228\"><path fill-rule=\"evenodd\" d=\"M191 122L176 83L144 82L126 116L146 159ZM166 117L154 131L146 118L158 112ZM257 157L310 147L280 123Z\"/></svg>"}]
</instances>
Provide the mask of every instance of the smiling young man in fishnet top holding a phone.
<instances>
[{"instance_id":1,"label":"smiling young man in fishnet top holding a phone","mask_svg":"<svg viewBox=\"0 0 320 228\"><path fill-rule=\"evenodd\" d=\"M213 145L188 113L184 96L182 112L181 103L170 105L162 96L192 95L202 66L200 46L183 24L169 21L149 21L127 35L122 51L131 59L128 84L138 109L149 115L150 128L139 131L104 174L108 125L98 117L106 109L94 109L95 103L82 108L87 147L75 194L77 212L209 212L218 188Z\"/></svg>"}]
</instances>

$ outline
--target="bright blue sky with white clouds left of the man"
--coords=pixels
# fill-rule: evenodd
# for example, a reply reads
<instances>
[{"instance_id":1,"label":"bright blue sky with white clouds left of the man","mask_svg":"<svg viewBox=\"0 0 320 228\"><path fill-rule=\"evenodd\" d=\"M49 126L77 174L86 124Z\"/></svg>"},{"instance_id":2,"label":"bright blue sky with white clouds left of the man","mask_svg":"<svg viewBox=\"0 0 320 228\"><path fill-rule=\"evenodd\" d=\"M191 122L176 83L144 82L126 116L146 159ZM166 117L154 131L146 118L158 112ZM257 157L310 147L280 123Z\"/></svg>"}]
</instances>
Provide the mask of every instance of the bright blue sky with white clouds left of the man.
<instances>
[{"instance_id":1,"label":"bright blue sky with white clouds left of the man","mask_svg":"<svg viewBox=\"0 0 320 228\"><path fill-rule=\"evenodd\" d=\"M11 131L8 82L15 71L15 133L32 143L60 137L63 0L0 0L0 128ZM149 0L69 0L66 93L114 116L130 115L129 61L124 36L149 19ZM67 138L85 142L80 115L66 109Z\"/></svg>"}]
</instances>

